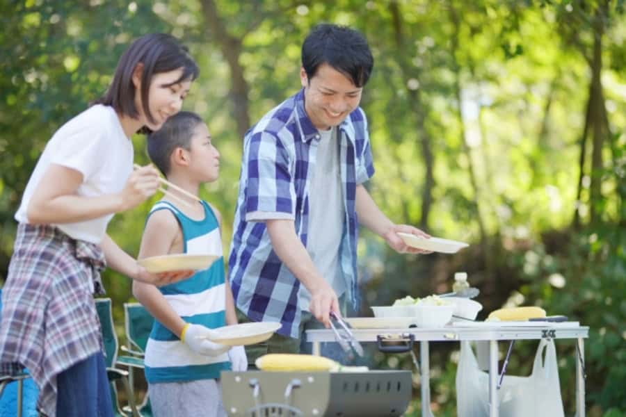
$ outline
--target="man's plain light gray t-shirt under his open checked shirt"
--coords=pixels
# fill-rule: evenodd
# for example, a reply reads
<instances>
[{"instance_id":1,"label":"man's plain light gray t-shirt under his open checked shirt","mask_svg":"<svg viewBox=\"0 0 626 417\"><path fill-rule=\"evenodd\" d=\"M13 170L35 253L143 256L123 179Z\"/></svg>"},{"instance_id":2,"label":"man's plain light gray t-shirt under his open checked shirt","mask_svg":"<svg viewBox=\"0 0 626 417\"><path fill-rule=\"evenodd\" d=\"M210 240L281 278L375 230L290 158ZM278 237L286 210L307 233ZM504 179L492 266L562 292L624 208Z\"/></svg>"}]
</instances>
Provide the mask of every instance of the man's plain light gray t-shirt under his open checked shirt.
<instances>
[{"instance_id":1,"label":"man's plain light gray t-shirt under his open checked shirt","mask_svg":"<svg viewBox=\"0 0 626 417\"><path fill-rule=\"evenodd\" d=\"M309 193L309 229L307 252L322 277L340 297L346 291L346 282L339 265L339 245L344 224L341 168L337 128L320 131L315 158L315 174ZM308 309L311 294L300 286L300 305Z\"/></svg>"}]
</instances>

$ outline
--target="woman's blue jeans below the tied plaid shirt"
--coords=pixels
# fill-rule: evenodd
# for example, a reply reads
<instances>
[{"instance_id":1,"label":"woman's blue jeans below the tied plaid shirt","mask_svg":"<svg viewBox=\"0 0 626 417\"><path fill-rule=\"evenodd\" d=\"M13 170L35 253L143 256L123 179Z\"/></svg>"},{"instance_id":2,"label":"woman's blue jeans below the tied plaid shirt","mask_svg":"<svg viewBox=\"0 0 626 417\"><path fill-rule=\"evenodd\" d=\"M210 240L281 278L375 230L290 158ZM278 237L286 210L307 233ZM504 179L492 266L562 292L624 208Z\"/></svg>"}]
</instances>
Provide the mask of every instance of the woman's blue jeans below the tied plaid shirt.
<instances>
[{"instance_id":1,"label":"woman's blue jeans below the tied plaid shirt","mask_svg":"<svg viewBox=\"0 0 626 417\"><path fill-rule=\"evenodd\" d=\"M56 384L57 416L113 417L113 401L102 352L58 374Z\"/></svg>"}]
</instances>

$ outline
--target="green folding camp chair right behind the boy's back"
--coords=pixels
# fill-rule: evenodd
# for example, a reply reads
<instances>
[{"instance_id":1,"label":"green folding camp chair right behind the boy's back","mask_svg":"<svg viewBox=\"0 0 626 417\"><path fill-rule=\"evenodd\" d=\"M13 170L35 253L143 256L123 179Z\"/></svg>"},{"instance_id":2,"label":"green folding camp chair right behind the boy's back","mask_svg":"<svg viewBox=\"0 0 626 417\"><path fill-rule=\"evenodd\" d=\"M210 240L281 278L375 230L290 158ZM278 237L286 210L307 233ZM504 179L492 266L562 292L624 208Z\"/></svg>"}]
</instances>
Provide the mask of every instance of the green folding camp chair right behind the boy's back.
<instances>
[{"instance_id":1,"label":"green folding camp chair right behind the boy's back","mask_svg":"<svg viewBox=\"0 0 626 417\"><path fill-rule=\"evenodd\" d=\"M124 319L126 345L122 345L121 350L127 354L118 357L117 363L127 367L131 391L134 395L134 369L144 368L143 354L152 331L154 318L140 303L127 302L124 304ZM137 409L143 417L152 416L152 407L150 406L150 398L148 398L147 393Z\"/></svg>"}]
</instances>

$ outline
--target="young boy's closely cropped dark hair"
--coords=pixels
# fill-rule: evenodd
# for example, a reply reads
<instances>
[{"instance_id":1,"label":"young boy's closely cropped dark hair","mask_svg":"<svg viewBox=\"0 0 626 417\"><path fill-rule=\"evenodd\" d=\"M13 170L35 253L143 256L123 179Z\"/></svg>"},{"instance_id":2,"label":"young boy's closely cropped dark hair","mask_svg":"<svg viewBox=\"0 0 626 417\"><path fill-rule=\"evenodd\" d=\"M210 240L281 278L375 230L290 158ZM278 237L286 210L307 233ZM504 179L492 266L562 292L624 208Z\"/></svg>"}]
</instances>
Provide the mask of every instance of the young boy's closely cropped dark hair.
<instances>
[{"instance_id":1,"label":"young boy's closely cropped dark hair","mask_svg":"<svg viewBox=\"0 0 626 417\"><path fill-rule=\"evenodd\" d=\"M167 177L170 172L170 156L175 149L181 147L191 149L193 130L198 124L204 123L202 117L191 111L179 111L168 117L161 129L147 136L147 153L150 160Z\"/></svg>"}]
</instances>

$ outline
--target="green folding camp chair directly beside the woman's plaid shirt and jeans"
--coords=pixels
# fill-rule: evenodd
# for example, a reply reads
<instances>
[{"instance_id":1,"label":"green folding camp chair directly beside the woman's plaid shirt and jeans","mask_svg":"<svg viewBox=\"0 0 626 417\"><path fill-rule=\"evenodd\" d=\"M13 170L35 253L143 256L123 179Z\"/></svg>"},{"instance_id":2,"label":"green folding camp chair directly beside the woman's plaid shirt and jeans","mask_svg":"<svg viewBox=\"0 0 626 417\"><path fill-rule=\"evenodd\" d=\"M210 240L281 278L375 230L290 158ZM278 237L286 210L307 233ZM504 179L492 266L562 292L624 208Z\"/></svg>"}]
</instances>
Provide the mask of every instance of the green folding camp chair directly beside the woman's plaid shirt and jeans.
<instances>
[{"instance_id":1,"label":"green folding camp chair directly beside the woman's plaid shirt and jeans","mask_svg":"<svg viewBox=\"0 0 626 417\"><path fill-rule=\"evenodd\" d=\"M106 375L109 377L111 385L111 400L113 401L113 410L116 416L127 417L128 414L120 409L118 402L118 389L115 382L120 379L124 385L128 402L130 404L131 414L134 417L141 417L135 407L135 399L128 382L128 373L125 370L115 368L118 358L118 336L115 334L115 326L113 325L113 313L111 312L111 298L97 298L95 300L98 317L100 319L100 327L102 329L102 341L104 342L104 353L106 357Z\"/></svg>"}]
</instances>

